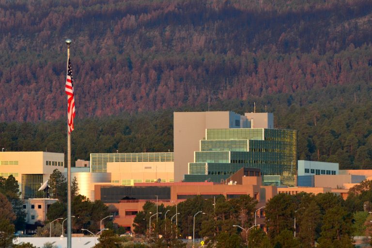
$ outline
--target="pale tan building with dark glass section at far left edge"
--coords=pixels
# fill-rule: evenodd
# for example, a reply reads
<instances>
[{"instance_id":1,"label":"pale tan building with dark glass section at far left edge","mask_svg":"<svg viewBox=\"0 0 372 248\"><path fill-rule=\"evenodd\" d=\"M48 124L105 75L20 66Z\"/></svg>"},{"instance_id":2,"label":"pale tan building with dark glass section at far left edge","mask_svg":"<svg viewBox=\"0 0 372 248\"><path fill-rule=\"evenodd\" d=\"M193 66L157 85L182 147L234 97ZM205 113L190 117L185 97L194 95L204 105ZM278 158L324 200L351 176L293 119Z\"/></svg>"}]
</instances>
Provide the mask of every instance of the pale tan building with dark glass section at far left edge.
<instances>
[{"instance_id":1,"label":"pale tan building with dark glass section at far left edge","mask_svg":"<svg viewBox=\"0 0 372 248\"><path fill-rule=\"evenodd\" d=\"M63 153L0 152L0 176L13 175L23 199L35 198L50 174L55 169L63 172L63 168Z\"/></svg>"}]
</instances>

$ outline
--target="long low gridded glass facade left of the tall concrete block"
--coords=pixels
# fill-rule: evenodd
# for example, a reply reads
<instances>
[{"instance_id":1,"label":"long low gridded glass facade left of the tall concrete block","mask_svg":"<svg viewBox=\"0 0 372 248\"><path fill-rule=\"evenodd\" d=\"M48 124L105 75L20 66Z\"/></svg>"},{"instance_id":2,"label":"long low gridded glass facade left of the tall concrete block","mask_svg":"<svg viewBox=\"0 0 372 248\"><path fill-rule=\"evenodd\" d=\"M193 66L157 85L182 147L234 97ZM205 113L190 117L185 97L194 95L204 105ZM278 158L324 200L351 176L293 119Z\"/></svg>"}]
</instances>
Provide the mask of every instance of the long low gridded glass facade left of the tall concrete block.
<instances>
[{"instance_id":1,"label":"long low gridded glass facade left of the tall concrete block","mask_svg":"<svg viewBox=\"0 0 372 248\"><path fill-rule=\"evenodd\" d=\"M173 162L174 153L92 153L91 172L107 172L109 162Z\"/></svg>"}]
</instances>

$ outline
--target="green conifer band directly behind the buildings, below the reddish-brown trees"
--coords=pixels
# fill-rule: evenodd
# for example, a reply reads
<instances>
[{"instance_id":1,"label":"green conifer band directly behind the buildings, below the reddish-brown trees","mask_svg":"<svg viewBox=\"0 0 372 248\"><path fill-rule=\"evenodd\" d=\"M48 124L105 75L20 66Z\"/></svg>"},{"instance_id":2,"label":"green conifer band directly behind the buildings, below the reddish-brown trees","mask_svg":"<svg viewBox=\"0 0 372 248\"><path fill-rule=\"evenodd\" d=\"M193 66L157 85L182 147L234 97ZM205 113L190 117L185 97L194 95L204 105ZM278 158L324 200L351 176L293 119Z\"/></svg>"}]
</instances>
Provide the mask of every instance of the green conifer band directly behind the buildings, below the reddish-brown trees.
<instances>
[{"instance_id":1,"label":"green conifer band directly behind the buildings, below the reddish-brown trees","mask_svg":"<svg viewBox=\"0 0 372 248\"><path fill-rule=\"evenodd\" d=\"M371 86L331 85L321 90L279 93L249 100L212 103L210 110L274 113L276 128L298 130L298 158L340 163L341 168L372 169ZM206 111L196 107L77 118L72 158L90 153L173 151L172 111ZM66 120L0 123L0 148L7 151L66 153Z\"/></svg>"}]
</instances>

